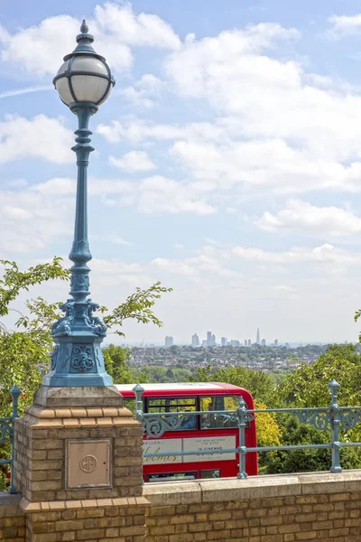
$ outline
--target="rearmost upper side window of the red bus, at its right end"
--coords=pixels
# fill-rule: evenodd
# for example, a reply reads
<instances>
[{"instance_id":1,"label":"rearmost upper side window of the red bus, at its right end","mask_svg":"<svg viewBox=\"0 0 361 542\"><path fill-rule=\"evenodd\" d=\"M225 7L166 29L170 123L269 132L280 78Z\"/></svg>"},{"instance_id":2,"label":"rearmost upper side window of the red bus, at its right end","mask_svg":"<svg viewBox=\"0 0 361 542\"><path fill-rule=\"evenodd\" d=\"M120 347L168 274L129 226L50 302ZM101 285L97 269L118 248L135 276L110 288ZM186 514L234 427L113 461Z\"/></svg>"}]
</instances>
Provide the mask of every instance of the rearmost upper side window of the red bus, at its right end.
<instances>
[{"instance_id":1,"label":"rearmost upper side window of the red bus, at its right end","mask_svg":"<svg viewBox=\"0 0 361 542\"><path fill-rule=\"evenodd\" d=\"M230 414L214 414L215 410L236 410L239 397L200 397L200 410L208 414L201 416L201 429L232 429L238 427L236 416Z\"/></svg>"}]
</instances>

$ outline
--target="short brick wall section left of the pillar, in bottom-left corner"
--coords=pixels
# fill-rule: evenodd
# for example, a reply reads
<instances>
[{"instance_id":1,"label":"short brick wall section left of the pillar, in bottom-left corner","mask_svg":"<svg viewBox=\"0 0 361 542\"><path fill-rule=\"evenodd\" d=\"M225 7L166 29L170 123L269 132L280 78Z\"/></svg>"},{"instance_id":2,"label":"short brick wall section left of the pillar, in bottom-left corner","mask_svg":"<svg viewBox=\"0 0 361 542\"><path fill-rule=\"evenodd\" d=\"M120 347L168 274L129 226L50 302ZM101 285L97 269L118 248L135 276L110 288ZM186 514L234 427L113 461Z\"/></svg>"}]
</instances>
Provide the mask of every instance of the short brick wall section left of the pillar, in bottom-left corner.
<instances>
[{"instance_id":1,"label":"short brick wall section left of the pillar, in bottom-left corner","mask_svg":"<svg viewBox=\"0 0 361 542\"><path fill-rule=\"evenodd\" d=\"M19 495L0 492L0 540L24 542L25 516L19 508Z\"/></svg>"}]
</instances>

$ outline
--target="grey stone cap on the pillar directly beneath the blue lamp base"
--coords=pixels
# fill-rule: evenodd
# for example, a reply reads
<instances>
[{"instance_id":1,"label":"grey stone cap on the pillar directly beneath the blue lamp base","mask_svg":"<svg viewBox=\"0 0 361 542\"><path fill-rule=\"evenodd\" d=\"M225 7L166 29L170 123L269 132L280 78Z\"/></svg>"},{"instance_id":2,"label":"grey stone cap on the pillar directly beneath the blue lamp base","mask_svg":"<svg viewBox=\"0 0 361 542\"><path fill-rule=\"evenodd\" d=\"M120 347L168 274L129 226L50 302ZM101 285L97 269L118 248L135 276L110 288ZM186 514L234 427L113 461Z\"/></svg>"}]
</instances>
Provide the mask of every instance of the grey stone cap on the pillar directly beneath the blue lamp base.
<instances>
[{"instance_id":1,"label":"grey stone cap on the pillar directly beneath the blue lamp base","mask_svg":"<svg viewBox=\"0 0 361 542\"><path fill-rule=\"evenodd\" d=\"M123 406L123 397L115 386L84 386L74 388L41 386L35 392L32 404L48 408Z\"/></svg>"}]
</instances>

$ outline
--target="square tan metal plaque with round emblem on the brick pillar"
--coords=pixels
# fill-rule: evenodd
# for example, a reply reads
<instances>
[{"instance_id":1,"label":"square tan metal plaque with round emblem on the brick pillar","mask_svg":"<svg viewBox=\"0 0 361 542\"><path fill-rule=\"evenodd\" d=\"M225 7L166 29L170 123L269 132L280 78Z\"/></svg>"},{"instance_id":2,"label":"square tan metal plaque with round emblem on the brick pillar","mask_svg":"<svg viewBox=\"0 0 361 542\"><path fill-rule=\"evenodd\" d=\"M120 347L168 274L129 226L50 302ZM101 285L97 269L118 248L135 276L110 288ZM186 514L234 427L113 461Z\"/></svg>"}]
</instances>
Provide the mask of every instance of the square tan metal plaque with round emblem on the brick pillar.
<instances>
[{"instance_id":1,"label":"square tan metal plaque with round emblem on the brick pillar","mask_svg":"<svg viewBox=\"0 0 361 542\"><path fill-rule=\"evenodd\" d=\"M110 487L110 439L68 440L66 488Z\"/></svg>"}]
</instances>

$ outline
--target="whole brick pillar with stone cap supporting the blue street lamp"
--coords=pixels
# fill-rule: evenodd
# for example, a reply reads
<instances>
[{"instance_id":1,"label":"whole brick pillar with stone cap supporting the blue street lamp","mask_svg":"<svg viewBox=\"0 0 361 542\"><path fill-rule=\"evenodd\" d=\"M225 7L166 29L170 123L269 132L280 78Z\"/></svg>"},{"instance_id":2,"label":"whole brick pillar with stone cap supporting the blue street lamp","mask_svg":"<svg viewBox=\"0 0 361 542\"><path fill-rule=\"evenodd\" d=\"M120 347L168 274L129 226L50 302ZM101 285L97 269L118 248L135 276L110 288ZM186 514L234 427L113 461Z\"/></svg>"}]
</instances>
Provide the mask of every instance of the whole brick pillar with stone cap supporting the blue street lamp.
<instances>
[{"instance_id":1,"label":"whole brick pillar with stone cap supporting the blue street lamp","mask_svg":"<svg viewBox=\"0 0 361 542\"><path fill-rule=\"evenodd\" d=\"M142 444L116 388L39 388L15 425L27 542L143 541Z\"/></svg>"}]
</instances>

